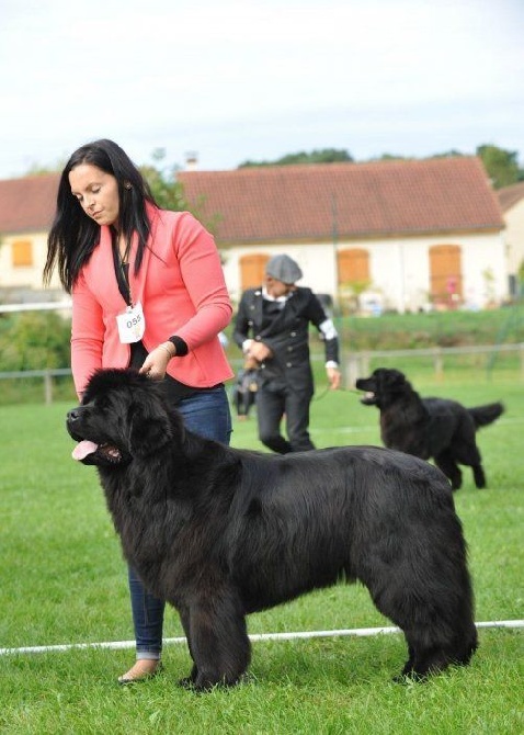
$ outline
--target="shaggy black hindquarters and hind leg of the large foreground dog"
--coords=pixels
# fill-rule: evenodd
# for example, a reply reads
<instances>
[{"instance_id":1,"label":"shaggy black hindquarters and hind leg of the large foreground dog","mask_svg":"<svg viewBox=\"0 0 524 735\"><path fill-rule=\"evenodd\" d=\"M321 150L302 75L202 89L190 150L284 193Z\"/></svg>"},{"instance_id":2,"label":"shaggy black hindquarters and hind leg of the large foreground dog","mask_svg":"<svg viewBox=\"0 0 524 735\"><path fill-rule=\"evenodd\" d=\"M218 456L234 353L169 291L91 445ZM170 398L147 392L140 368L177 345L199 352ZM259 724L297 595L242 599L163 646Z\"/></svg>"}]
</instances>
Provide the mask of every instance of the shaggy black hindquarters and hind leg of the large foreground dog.
<instances>
[{"instance_id":1,"label":"shaggy black hindquarters and hind leg of the large foreground dog","mask_svg":"<svg viewBox=\"0 0 524 735\"><path fill-rule=\"evenodd\" d=\"M406 636L409 657L400 679L423 679L451 664L467 664L476 647L460 525L437 504L433 511L412 514L397 530L402 542L396 534L376 539L361 568L354 567L377 609Z\"/></svg>"}]
</instances>

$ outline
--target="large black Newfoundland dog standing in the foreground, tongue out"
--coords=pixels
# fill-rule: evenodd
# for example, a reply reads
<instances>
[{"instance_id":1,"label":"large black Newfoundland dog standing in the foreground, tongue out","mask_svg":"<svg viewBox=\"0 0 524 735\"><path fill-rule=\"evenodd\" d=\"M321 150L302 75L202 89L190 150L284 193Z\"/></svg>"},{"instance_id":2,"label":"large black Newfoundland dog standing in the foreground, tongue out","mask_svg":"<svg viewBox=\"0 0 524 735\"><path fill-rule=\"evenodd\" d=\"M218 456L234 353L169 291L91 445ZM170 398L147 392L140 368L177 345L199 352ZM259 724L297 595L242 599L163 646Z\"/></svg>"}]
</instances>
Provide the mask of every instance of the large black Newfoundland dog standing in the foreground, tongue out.
<instances>
[{"instance_id":1,"label":"large black Newfoundland dog standing in the foreground, tongue out","mask_svg":"<svg viewBox=\"0 0 524 735\"><path fill-rule=\"evenodd\" d=\"M246 615L358 579L406 636L402 675L477 646L466 545L447 479L377 446L276 455L187 431L161 383L100 371L69 411L73 456L98 466L125 557L180 613L197 690L250 663Z\"/></svg>"}]
</instances>

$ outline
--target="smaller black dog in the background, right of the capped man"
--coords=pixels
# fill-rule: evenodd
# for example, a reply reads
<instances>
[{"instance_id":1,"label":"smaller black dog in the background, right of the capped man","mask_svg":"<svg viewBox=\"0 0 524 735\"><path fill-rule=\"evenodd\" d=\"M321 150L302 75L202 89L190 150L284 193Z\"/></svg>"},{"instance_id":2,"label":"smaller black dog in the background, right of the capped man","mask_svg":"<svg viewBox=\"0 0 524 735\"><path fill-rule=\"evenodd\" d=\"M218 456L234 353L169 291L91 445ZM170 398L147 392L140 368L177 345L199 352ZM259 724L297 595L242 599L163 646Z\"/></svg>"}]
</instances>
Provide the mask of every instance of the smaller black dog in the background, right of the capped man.
<instances>
[{"instance_id":1,"label":"smaller black dog in the background, right of the capped man","mask_svg":"<svg viewBox=\"0 0 524 735\"><path fill-rule=\"evenodd\" d=\"M486 487L476 432L499 418L504 410L501 403L465 408L456 400L421 398L403 373L388 368L360 377L355 386L366 392L362 403L380 411L385 446L433 459L454 490L463 483L459 464L471 467L477 487Z\"/></svg>"}]
</instances>

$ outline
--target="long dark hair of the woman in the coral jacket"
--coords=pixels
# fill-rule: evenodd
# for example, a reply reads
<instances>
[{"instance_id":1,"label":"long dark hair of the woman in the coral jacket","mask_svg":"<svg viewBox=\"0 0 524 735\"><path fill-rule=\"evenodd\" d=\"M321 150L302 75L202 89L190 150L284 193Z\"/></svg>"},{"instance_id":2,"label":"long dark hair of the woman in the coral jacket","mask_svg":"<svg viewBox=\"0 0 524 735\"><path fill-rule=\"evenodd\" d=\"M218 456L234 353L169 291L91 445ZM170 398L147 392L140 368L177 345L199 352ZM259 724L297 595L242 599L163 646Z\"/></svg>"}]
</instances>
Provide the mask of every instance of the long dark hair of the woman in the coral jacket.
<instances>
[{"instance_id":1,"label":"long dark hair of the woman in the coral jacket","mask_svg":"<svg viewBox=\"0 0 524 735\"><path fill-rule=\"evenodd\" d=\"M84 213L71 194L69 173L80 163L91 163L115 177L118 184L119 231L127 245L130 245L135 231L138 235L135 272L140 269L151 230L146 202L158 206L149 184L116 143L102 139L78 148L61 172L55 219L47 238L47 260L44 267L44 283L48 284L55 265L58 264L58 274L67 293L71 293L80 270L100 241L100 225Z\"/></svg>"}]
</instances>

